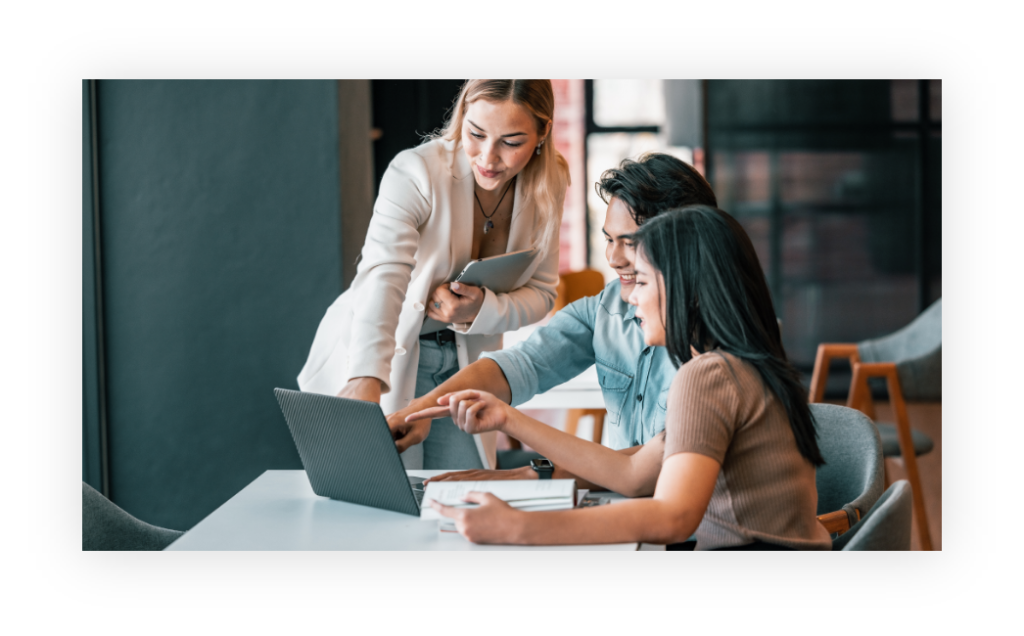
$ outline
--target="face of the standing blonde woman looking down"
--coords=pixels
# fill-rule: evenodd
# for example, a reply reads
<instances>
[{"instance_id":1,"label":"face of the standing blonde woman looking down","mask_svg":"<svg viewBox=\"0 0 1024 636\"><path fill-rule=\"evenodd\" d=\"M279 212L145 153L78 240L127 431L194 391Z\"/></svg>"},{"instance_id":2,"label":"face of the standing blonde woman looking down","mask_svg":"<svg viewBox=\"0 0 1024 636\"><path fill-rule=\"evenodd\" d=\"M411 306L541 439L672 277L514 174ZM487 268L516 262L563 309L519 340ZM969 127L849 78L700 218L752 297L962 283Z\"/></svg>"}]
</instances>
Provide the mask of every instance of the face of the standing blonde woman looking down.
<instances>
[{"instance_id":1,"label":"face of the standing blonde woman looking down","mask_svg":"<svg viewBox=\"0 0 1024 636\"><path fill-rule=\"evenodd\" d=\"M477 99L466 109L462 147L482 189L504 187L526 167L541 139L537 120L514 101Z\"/></svg>"}]
</instances>

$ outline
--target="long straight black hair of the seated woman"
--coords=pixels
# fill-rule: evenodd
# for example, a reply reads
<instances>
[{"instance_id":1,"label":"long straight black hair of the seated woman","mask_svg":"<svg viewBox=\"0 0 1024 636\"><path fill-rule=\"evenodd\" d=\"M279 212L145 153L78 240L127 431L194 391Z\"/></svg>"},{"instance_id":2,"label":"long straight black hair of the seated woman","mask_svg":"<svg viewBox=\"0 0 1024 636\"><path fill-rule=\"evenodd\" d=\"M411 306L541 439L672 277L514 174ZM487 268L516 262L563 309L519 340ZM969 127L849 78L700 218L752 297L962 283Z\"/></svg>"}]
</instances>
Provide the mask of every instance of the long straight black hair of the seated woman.
<instances>
[{"instance_id":1,"label":"long straight black hair of the seated woman","mask_svg":"<svg viewBox=\"0 0 1024 636\"><path fill-rule=\"evenodd\" d=\"M750 363L785 408L800 454L824 464L807 391L786 358L768 284L742 226L717 208L687 206L651 219L634 241L665 281L666 348L673 364L689 362L691 344Z\"/></svg>"}]
</instances>

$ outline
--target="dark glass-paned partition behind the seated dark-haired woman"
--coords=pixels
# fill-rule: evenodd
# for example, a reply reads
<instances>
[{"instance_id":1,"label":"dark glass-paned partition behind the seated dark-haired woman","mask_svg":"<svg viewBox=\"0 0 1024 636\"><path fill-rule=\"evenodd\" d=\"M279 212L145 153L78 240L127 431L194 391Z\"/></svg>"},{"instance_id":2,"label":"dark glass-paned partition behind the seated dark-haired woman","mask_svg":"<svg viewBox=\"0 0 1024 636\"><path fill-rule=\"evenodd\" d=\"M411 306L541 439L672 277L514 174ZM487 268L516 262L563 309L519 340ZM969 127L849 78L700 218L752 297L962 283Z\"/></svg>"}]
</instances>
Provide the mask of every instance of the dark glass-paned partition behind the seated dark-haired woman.
<instances>
[{"instance_id":1,"label":"dark glass-paned partition behind the seated dark-haired woman","mask_svg":"<svg viewBox=\"0 0 1024 636\"><path fill-rule=\"evenodd\" d=\"M942 80L706 86L709 177L758 249L800 366L942 296Z\"/></svg>"}]
</instances>

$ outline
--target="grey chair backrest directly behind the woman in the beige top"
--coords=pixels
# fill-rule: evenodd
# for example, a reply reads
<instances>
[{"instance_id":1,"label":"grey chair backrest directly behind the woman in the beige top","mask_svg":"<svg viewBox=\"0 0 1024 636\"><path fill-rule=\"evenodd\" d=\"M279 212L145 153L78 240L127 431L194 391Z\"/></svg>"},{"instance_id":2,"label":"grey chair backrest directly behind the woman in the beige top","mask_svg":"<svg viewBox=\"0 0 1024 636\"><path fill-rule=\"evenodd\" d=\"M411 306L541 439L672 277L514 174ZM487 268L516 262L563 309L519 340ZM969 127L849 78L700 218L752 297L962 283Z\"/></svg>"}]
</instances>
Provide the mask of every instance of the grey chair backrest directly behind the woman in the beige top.
<instances>
[{"instance_id":1,"label":"grey chair backrest directly behind the woman in the beige top","mask_svg":"<svg viewBox=\"0 0 1024 636\"><path fill-rule=\"evenodd\" d=\"M829 533L843 533L882 496L882 441L874 425L859 411L811 405L811 414L825 460L817 470L818 520Z\"/></svg>"}]
</instances>

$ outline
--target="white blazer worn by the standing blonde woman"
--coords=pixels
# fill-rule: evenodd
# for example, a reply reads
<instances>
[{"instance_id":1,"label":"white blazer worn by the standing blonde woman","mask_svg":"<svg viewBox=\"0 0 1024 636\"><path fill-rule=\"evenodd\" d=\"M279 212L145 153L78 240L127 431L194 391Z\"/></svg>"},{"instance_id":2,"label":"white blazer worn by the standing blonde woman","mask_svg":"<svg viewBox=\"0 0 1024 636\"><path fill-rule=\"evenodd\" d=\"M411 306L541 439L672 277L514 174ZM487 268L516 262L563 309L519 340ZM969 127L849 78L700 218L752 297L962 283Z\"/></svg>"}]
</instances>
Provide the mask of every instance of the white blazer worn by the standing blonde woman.
<instances>
[{"instance_id":1,"label":"white blazer worn by the standing blonde woman","mask_svg":"<svg viewBox=\"0 0 1024 636\"><path fill-rule=\"evenodd\" d=\"M428 295L471 260L472 167L461 142L435 139L398 154L381 181L361 260L351 287L328 308L299 373L303 391L336 395L349 378L381 380L384 413L416 397L420 330ZM516 181L508 251L535 247L542 227L522 205ZM561 207L558 210L561 216ZM502 334L540 321L554 306L558 235L551 237L516 289L484 289L472 324L456 332L459 367L502 347ZM476 436L484 466L497 466L495 433Z\"/></svg>"}]
</instances>

